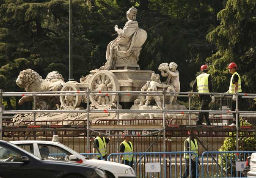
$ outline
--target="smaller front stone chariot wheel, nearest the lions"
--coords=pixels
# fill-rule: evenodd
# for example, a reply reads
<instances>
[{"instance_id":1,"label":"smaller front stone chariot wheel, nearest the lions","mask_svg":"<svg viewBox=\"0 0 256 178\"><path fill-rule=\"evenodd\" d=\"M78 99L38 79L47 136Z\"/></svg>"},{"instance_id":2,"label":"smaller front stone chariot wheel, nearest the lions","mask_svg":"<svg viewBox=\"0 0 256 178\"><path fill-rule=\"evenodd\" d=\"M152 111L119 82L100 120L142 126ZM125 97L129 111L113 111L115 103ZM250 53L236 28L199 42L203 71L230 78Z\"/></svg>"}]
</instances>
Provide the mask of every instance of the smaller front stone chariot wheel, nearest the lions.
<instances>
[{"instance_id":1,"label":"smaller front stone chariot wheel, nearest the lions","mask_svg":"<svg viewBox=\"0 0 256 178\"><path fill-rule=\"evenodd\" d=\"M61 91L80 91L80 88L76 85L77 82L66 82L61 88ZM61 96L61 105L66 110L74 110L80 106L82 101L82 95L63 95Z\"/></svg>"}]
</instances>

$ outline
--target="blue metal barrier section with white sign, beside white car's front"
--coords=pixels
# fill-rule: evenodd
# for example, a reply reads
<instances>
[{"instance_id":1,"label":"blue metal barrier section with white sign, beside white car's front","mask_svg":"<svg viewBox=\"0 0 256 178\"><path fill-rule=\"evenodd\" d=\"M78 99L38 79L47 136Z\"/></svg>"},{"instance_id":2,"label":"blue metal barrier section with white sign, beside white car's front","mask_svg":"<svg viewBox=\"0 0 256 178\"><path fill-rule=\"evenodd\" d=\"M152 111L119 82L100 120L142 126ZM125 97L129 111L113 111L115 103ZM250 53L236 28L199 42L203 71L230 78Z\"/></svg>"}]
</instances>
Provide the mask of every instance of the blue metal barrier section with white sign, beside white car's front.
<instances>
[{"instance_id":1,"label":"blue metal barrier section with white sign, beside white car's front","mask_svg":"<svg viewBox=\"0 0 256 178\"><path fill-rule=\"evenodd\" d=\"M184 153L191 156L195 152L149 152L149 153L111 153L108 161L126 163L133 167L138 178L173 178L191 173L193 164L185 162ZM127 160L121 160L121 156L127 159L133 157L133 164ZM195 175L198 175L198 158L195 156ZM188 169L186 169L188 167Z\"/></svg>"}]
</instances>

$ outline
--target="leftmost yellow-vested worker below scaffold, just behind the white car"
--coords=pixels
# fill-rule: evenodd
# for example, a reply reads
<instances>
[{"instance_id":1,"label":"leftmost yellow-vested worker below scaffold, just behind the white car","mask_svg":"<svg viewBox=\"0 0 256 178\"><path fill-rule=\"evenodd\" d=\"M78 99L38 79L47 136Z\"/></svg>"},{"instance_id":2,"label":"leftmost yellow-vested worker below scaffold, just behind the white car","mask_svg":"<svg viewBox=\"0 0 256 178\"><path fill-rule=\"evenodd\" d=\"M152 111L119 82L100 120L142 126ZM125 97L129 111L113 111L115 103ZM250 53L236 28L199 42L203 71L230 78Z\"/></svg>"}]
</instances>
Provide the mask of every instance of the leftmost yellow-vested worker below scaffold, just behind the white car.
<instances>
[{"instance_id":1,"label":"leftmost yellow-vested worker below scaffold, just behind the white car","mask_svg":"<svg viewBox=\"0 0 256 178\"><path fill-rule=\"evenodd\" d=\"M107 160L107 143L111 142L112 137L110 136L110 138L108 139L106 137L98 136L94 140L95 140L96 146L99 148L99 152L102 155L103 159ZM99 153L95 146L93 148L93 152ZM97 154L97 159L101 159L101 157L98 154Z\"/></svg>"}]
</instances>

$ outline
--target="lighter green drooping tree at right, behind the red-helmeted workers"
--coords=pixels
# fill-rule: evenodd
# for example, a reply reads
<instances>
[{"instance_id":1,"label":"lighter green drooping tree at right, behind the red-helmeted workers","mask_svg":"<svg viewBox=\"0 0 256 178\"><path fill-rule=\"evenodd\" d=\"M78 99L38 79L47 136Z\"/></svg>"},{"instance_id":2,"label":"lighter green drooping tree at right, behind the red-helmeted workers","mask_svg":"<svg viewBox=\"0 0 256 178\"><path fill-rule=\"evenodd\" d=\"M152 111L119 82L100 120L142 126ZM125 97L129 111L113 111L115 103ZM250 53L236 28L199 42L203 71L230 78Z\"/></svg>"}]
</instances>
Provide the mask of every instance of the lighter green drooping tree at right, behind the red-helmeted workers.
<instances>
[{"instance_id":1,"label":"lighter green drooping tree at right, behind the red-helmeted workers","mask_svg":"<svg viewBox=\"0 0 256 178\"><path fill-rule=\"evenodd\" d=\"M228 0L217 14L219 26L206 36L217 46L217 52L207 59L214 88L226 92L229 83L227 66L238 65L243 93L256 93L256 1Z\"/></svg>"}]
</instances>

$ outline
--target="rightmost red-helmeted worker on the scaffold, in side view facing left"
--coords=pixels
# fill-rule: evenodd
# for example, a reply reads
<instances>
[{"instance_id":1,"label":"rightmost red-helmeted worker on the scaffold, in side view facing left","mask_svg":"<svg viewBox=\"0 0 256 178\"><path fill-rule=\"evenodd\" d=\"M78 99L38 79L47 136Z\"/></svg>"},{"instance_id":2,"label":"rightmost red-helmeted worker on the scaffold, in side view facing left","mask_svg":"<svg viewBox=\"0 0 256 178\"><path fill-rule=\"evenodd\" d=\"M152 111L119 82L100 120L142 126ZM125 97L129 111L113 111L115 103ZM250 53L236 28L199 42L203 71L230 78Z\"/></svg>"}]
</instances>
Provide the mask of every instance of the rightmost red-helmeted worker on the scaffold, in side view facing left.
<instances>
[{"instance_id":1,"label":"rightmost red-helmeted worker on the scaffold, in side view facing left","mask_svg":"<svg viewBox=\"0 0 256 178\"><path fill-rule=\"evenodd\" d=\"M242 93L242 87L241 87L241 78L240 75L237 73L237 64L236 63L230 63L228 65L229 73L232 74L232 77L230 79L230 84L227 93ZM241 99L242 96L238 96L238 110L241 108ZM236 110L236 96L233 95L232 101L231 101L231 111ZM240 125L239 121L239 113L238 113L238 125ZM236 113L233 113L233 122L230 126L236 126Z\"/></svg>"}]
</instances>

